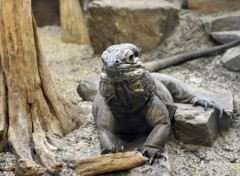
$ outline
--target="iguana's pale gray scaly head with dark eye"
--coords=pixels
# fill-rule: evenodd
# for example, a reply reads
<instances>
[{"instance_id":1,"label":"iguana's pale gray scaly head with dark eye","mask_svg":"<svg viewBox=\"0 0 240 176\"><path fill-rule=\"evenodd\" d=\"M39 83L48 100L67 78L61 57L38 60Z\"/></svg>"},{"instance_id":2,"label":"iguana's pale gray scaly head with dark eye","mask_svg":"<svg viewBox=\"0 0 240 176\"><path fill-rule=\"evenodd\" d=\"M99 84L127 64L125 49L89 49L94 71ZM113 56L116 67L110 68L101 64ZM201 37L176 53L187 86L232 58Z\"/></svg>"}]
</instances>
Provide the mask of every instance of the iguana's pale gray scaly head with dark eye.
<instances>
[{"instance_id":1,"label":"iguana's pale gray scaly head with dark eye","mask_svg":"<svg viewBox=\"0 0 240 176\"><path fill-rule=\"evenodd\" d=\"M139 49L130 43L112 45L102 54L103 72L109 78L144 68L139 60Z\"/></svg>"}]
</instances>

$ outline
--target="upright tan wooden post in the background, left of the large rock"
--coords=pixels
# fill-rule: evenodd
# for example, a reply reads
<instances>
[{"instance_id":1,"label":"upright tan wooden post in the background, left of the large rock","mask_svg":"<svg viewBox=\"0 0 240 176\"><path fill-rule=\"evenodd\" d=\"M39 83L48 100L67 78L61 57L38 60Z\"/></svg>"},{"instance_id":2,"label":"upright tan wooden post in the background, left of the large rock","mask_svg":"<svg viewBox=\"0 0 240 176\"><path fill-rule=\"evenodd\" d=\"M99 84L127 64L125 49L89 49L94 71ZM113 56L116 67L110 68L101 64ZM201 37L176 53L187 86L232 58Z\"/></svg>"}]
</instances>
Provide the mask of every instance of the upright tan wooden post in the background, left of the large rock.
<instances>
[{"instance_id":1,"label":"upright tan wooden post in the background, left of the large rock","mask_svg":"<svg viewBox=\"0 0 240 176\"><path fill-rule=\"evenodd\" d=\"M91 44L79 0L60 0L62 40Z\"/></svg>"}]
</instances>

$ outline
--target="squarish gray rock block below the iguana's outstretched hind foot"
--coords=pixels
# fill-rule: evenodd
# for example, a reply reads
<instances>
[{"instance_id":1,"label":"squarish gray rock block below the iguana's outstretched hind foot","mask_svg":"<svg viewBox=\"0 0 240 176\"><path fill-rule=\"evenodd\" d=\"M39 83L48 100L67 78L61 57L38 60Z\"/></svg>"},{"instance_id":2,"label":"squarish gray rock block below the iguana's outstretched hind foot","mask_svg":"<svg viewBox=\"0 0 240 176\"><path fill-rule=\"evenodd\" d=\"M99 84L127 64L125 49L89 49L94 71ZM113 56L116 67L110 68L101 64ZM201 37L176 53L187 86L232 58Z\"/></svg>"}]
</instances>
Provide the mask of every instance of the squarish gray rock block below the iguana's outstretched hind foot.
<instances>
[{"instance_id":1,"label":"squarish gray rock block below the iguana's outstretched hind foot","mask_svg":"<svg viewBox=\"0 0 240 176\"><path fill-rule=\"evenodd\" d=\"M217 138L217 118L213 109L190 104L176 104L174 129L176 138L185 144L212 146Z\"/></svg>"}]
</instances>

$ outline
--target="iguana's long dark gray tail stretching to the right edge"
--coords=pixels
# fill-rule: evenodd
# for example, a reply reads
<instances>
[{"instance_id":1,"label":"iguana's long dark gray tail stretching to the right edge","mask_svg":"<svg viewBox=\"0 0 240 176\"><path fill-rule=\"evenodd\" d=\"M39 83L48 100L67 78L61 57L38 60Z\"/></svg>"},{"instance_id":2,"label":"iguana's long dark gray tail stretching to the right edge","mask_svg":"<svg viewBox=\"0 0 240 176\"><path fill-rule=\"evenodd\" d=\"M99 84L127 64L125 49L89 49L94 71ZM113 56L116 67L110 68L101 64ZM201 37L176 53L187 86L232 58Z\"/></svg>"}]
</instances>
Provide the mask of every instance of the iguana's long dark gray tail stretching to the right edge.
<instances>
[{"instance_id":1,"label":"iguana's long dark gray tail stretching to the right edge","mask_svg":"<svg viewBox=\"0 0 240 176\"><path fill-rule=\"evenodd\" d=\"M234 46L237 46L240 44L240 39L234 40L232 42L220 45L220 46L215 46L212 48L206 48L202 49L199 51L193 51L193 52L188 52L188 53L183 53L183 54L178 54L175 56L167 57L164 59L158 59L150 62L145 62L144 65L146 66L146 69L150 72L156 72L161 69L174 66L177 64L181 64L183 62L193 60L199 57L203 56L208 56L208 55L216 55L219 54L220 52L225 51L228 48L232 48Z\"/></svg>"}]
</instances>

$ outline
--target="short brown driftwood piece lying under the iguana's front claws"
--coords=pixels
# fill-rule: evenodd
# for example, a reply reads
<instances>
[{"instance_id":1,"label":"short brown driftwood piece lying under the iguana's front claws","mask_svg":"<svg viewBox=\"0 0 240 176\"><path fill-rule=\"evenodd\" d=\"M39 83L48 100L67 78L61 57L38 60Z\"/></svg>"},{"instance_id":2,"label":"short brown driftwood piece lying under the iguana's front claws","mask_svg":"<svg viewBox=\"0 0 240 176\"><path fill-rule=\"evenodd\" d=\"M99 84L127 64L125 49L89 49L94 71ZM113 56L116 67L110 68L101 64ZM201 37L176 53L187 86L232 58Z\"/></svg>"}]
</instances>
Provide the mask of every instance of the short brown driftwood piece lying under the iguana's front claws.
<instances>
[{"instance_id":1,"label":"short brown driftwood piece lying under the iguana's front claws","mask_svg":"<svg viewBox=\"0 0 240 176\"><path fill-rule=\"evenodd\" d=\"M147 160L140 152L105 154L80 160L74 164L81 176L91 176L112 171L131 169L140 166Z\"/></svg>"}]
</instances>

